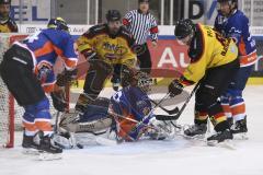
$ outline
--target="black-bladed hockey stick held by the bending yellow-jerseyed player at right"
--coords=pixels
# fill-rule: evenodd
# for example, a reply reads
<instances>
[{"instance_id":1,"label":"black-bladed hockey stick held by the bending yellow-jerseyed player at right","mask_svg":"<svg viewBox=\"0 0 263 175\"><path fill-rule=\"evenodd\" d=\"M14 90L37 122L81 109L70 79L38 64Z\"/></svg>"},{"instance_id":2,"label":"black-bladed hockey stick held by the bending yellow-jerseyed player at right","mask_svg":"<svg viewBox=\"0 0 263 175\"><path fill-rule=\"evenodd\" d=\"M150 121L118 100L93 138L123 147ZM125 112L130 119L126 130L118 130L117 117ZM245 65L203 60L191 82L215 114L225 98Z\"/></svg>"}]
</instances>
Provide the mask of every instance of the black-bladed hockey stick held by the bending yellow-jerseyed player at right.
<instances>
[{"instance_id":1,"label":"black-bladed hockey stick held by the bending yellow-jerseyed player at right","mask_svg":"<svg viewBox=\"0 0 263 175\"><path fill-rule=\"evenodd\" d=\"M176 120L179 117L182 115L183 110L187 106L192 96L195 94L197 89L199 88L201 81L195 85L195 88L192 90L191 94L187 96L186 101L184 102L183 106L180 108L179 113L173 115L173 116L167 116L167 115L157 115L156 118L158 120Z\"/></svg>"}]
</instances>

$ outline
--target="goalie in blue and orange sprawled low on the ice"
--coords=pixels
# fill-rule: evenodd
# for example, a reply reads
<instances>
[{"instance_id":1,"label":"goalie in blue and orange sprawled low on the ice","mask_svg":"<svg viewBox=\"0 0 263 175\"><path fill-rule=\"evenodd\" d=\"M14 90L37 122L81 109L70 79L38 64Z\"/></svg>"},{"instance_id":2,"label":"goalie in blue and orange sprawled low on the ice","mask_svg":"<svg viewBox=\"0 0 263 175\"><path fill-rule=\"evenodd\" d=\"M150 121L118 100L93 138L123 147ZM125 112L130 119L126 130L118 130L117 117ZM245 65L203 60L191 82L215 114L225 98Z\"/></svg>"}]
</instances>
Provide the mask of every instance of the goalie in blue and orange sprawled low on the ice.
<instances>
[{"instance_id":1,"label":"goalie in blue and orange sprawled low on the ice","mask_svg":"<svg viewBox=\"0 0 263 175\"><path fill-rule=\"evenodd\" d=\"M147 95L151 84L147 73L136 72L130 85L116 92L111 100L98 97L83 115L66 114L60 128L95 136L114 132L116 141L136 141L142 137L167 139L173 136L173 127L156 119Z\"/></svg>"}]
</instances>

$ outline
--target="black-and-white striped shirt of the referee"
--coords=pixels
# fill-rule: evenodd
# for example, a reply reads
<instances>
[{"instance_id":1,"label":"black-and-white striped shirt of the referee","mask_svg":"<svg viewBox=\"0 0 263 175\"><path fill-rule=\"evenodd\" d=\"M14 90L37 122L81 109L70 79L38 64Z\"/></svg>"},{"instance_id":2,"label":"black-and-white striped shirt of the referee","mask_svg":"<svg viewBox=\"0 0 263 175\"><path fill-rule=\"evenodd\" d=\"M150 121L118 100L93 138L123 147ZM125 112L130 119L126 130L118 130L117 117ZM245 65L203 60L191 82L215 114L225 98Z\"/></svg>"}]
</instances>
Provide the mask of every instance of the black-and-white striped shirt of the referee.
<instances>
[{"instance_id":1,"label":"black-and-white striped shirt of the referee","mask_svg":"<svg viewBox=\"0 0 263 175\"><path fill-rule=\"evenodd\" d=\"M123 19L123 24L135 38L137 45L144 45L150 34L151 40L158 39L158 25L151 13L141 13L140 10L129 11Z\"/></svg>"}]
</instances>

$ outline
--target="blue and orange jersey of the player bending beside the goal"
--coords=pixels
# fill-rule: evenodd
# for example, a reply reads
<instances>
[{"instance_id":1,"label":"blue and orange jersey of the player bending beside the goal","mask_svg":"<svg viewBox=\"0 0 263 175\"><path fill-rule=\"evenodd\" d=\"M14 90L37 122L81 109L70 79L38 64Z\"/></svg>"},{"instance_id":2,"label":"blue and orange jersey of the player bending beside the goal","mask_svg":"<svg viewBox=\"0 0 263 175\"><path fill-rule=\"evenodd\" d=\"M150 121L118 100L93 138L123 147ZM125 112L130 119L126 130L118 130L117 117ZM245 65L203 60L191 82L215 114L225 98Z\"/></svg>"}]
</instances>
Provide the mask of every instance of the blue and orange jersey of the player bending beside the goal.
<instances>
[{"instance_id":1,"label":"blue and orange jersey of the player bending beside the goal","mask_svg":"<svg viewBox=\"0 0 263 175\"><path fill-rule=\"evenodd\" d=\"M66 69L77 66L77 54L73 39L67 32L47 28L28 36L23 44L34 54L35 74L46 92L50 92L56 82L54 65L60 57Z\"/></svg>"}]
</instances>

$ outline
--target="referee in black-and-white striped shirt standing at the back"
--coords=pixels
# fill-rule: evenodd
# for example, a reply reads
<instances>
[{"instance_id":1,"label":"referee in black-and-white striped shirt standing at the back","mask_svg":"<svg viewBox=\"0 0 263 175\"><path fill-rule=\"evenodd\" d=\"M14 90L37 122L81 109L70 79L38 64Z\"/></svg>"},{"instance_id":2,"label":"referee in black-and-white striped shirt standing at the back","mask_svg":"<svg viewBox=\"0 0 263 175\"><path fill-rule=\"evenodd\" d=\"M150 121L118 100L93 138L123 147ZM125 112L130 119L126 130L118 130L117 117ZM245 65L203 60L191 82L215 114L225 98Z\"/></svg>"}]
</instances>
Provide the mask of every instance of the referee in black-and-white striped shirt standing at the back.
<instances>
[{"instance_id":1,"label":"referee in black-and-white striped shirt standing at the back","mask_svg":"<svg viewBox=\"0 0 263 175\"><path fill-rule=\"evenodd\" d=\"M157 47L158 25L155 16L149 12L149 0L139 0L139 9L129 11L124 16L123 24L135 38L141 71L150 74L151 56L147 46L147 38L150 34L152 46Z\"/></svg>"}]
</instances>

